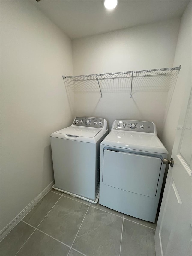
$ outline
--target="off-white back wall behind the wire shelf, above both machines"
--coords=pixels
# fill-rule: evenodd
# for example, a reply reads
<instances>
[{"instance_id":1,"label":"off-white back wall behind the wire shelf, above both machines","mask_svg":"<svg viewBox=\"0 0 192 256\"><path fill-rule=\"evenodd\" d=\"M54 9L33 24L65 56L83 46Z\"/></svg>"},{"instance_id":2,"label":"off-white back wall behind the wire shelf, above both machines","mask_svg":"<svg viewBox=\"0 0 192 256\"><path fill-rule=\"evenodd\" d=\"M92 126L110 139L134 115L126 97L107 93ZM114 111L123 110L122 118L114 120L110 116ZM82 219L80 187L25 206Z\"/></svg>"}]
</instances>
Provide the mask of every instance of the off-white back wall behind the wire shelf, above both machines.
<instances>
[{"instance_id":1,"label":"off-white back wall behind the wire shelf, above both machines","mask_svg":"<svg viewBox=\"0 0 192 256\"><path fill-rule=\"evenodd\" d=\"M72 41L74 75L99 74L173 66L180 19L122 29ZM180 65L176 63L177 66ZM168 78L126 82L101 81L103 98L96 84L75 88L75 115L155 122L161 136L169 90Z\"/></svg>"}]
</instances>

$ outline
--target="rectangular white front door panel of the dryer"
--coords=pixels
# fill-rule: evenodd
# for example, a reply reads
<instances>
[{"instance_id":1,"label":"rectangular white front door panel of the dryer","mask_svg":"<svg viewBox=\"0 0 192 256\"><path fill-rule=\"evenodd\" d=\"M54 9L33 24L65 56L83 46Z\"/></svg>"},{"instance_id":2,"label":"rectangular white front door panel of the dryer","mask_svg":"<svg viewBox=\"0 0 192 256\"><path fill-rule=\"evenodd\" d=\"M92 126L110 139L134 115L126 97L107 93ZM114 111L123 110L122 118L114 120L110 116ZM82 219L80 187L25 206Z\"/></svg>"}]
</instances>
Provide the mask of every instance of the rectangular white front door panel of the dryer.
<instances>
[{"instance_id":1,"label":"rectangular white front door panel of the dryer","mask_svg":"<svg viewBox=\"0 0 192 256\"><path fill-rule=\"evenodd\" d=\"M136 194L155 197L161 162L158 157L105 149L103 183Z\"/></svg>"}]
</instances>

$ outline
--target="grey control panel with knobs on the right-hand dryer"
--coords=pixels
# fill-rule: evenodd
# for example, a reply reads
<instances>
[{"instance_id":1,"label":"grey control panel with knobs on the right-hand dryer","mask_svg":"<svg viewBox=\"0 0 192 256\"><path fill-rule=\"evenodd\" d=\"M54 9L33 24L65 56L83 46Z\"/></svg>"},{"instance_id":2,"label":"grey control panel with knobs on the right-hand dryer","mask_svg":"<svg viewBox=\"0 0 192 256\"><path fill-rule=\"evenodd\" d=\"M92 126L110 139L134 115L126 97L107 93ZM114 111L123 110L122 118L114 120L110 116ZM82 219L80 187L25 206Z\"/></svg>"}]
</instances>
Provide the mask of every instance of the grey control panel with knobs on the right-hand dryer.
<instances>
[{"instance_id":1,"label":"grey control panel with knobs on the right-hand dryer","mask_svg":"<svg viewBox=\"0 0 192 256\"><path fill-rule=\"evenodd\" d=\"M116 120L113 125L113 130L154 133L154 125L152 122L145 121Z\"/></svg>"}]
</instances>

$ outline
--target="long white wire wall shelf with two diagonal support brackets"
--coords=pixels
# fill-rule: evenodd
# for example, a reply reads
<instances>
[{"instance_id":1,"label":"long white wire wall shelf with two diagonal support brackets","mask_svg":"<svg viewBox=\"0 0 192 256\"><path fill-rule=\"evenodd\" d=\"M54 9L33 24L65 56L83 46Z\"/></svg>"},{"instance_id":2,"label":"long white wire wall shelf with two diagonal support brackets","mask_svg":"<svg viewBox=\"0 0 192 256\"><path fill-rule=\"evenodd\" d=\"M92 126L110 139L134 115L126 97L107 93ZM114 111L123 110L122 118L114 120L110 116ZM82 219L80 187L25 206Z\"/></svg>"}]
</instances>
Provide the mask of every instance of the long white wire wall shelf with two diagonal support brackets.
<instances>
[{"instance_id":1,"label":"long white wire wall shelf with two diagonal support brackets","mask_svg":"<svg viewBox=\"0 0 192 256\"><path fill-rule=\"evenodd\" d=\"M96 80L99 85L99 90L101 93L101 98L103 98L101 86L99 80L105 79L116 79L116 78L131 78L131 93L130 98L132 98L132 86L133 86L133 78L134 77L151 77L151 76L164 76L170 75L172 72L179 71L181 69L181 65L179 67L174 68L159 68L159 69L148 69L148 70L137 70L137 71L125 71L125 72L116 72L116 73L104 73L104 74L92 74L92 75L79 75L79 76L62 76L63 80L70 78L73 81L91 81Z\"/></svg>"}]
</instances>

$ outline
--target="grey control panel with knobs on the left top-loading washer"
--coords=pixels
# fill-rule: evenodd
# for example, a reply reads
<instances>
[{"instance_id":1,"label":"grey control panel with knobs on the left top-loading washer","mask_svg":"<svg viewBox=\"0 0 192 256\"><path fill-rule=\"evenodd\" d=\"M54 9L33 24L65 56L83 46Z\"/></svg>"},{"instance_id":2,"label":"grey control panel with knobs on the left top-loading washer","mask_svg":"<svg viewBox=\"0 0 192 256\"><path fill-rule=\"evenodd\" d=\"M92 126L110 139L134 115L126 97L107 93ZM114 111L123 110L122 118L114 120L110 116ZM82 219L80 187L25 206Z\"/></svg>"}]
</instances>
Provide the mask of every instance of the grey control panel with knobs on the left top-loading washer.
<instances>
[{"instance_id":1,"label":"grey control panel with knobs on the left top-loading washer","mask_svg":"<svg viewBox=\"0 0 192 256\"><path fill-rule=\"evenodd\" d=\"M75 118L73 125L83 126L83 127L94 127L94 128L104 128L104 119L96 117L82 117L78 116Z\"/></svg>"}]
</instances>

